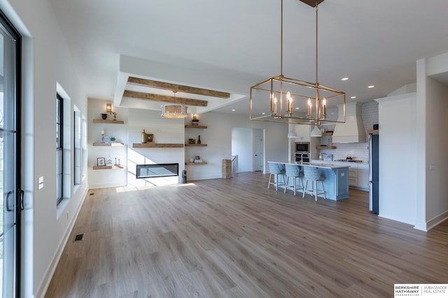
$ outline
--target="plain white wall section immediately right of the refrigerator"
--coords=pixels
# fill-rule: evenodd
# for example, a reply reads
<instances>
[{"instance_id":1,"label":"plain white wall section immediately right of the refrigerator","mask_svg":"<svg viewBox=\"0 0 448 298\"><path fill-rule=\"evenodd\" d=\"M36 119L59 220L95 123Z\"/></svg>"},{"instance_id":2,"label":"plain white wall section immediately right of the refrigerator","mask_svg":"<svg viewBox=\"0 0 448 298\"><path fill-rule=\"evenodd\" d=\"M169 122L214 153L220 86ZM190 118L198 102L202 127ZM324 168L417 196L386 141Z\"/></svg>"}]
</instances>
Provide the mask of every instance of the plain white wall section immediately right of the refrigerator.
<instances>
[{"instance_id":1,"label":"plain white wall section immediately right of the refrigerator","mask_svg":"<svg viewBox=\"0 0 448 298\"><path fill-rule=\"evenodd\" d=\"M379 102L379 216L414 225L418 179L416 94ZM398 121L399 120L399 121Z\"/></svg>"}]
</instances>

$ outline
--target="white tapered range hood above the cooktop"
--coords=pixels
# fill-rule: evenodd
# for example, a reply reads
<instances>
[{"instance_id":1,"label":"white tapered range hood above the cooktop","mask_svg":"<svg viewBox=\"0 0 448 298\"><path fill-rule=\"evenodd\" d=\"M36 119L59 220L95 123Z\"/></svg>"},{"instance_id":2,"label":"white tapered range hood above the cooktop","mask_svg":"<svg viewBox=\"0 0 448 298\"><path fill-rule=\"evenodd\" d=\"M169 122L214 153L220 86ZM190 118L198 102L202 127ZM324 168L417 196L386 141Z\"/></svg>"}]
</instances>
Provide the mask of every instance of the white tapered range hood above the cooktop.
<instances>
[{"instance_id":1,"label":"white tapered range hood above the cooktop","mask_svg":"<svg viewBox=\"0 0 448 298\"><path fill-rule=\"evenodd\" d=\"M338 121L344 118L344 105L338 105ZM367 135L361 119L360 103L347 103L345 106L345 123L336 124L332 136L333 143L365 143Z\"/></svg>"}]
</instances>

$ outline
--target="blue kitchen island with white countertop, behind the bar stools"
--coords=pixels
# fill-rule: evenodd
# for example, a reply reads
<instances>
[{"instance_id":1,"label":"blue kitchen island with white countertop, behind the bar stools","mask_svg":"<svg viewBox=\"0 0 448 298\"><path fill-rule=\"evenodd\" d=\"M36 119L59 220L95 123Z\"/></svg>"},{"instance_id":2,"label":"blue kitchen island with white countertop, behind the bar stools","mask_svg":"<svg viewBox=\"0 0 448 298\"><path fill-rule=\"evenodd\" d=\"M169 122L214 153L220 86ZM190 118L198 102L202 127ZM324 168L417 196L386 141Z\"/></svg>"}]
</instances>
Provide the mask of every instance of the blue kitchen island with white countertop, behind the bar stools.
<instances>
[{"instance_id":1,"label":"blue kitchen island with white countertop, behind the bar stools","mask_svg":"<svg viewBox=\"0 0 448 298\"><path fill-rule=\"evenodd\" d=\"M299 167L317 167L321 176L325 177L323 186L325 198L330 200L342 200L349 198L349 166L332 165L329 163L300 163L295 161L268 161L268 163L281 163L283 165L298 165ZM288 186L293 185L293 179L289 179ZM279 188L282 186L279 185ZM311 183L307 185L311 190ZM323 195L318 195L323 198Z\"/></svg>"}]
</instances>

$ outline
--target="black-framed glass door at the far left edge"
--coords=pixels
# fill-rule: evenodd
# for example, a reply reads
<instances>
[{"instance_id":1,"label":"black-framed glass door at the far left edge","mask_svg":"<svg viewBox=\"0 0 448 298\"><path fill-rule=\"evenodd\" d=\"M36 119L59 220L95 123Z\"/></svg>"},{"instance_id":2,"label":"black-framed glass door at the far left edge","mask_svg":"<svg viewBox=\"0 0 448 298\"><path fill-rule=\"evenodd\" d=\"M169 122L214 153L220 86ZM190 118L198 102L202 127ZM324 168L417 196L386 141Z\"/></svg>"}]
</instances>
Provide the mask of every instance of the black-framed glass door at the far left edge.
<instances>
[{"instance_id":1,"label":"black-framed glass door at the far left edge","mask_svg":"<svg viewBox=\"0 0 448 298\"><path fill-rule=\"evenodd\" d=\"M20 101L18 100L18 52L20 39L0 14L0 293L16 297L20 268Z\"/></svg>"}]
</instances>

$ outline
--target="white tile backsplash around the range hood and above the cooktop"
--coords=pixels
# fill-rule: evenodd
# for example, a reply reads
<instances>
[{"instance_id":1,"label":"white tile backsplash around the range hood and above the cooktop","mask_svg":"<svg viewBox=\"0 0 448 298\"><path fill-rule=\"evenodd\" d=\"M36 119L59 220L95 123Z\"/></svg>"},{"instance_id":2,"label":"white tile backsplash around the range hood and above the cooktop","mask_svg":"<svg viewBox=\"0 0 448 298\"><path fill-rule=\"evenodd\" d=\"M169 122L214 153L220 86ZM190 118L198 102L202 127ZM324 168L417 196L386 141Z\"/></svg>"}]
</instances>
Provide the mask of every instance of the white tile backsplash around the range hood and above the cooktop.
<instances>
[{"instance_id":1,"label":"white tile backsplash around the range hood and above the cooktop","mask_svg":"<svg viewBox=\"0 0 448 298\"><path fill-rule=\"evenodd\" d=\"M328 114L335 116L335 119L337 119L337 107L328 108ZM378 103L373 100L363 103L361 105L361 118L367 134L367 131L373 129L373 124L378 124ZM334 126L325 128L326 131L333 129ZM331 137L321 137L321 144L331 145ZM356 160L369 161L369 144L367 139L364 143L337 143L333 145L336 146L336 149L321 149L321 152L325 154L332 154L333 161L345 159L348 154Z\"/></svg>"}]
</instances>

